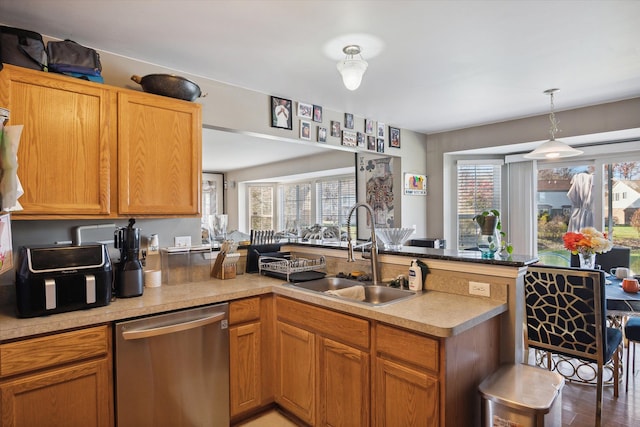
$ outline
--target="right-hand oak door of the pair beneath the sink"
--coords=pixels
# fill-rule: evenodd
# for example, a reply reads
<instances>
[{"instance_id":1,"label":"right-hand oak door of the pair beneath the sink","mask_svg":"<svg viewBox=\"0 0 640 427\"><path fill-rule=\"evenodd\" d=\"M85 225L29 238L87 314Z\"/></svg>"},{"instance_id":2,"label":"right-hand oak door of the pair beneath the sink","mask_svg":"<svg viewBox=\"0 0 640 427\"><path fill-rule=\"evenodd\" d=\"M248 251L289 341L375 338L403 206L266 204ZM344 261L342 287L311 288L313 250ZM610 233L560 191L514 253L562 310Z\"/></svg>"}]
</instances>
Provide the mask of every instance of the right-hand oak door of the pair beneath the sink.
<instances>
[{"instance_id":1,"label":"right-hand oak door of the pair beneath the sink","mask_svg":"<svg viewBox=\"0 0 640 427\"><path fill-rule=\"evenodd\" d=\"M369 355L320 340L320 426L369 426Z\"/></svg>"}]
</instances>

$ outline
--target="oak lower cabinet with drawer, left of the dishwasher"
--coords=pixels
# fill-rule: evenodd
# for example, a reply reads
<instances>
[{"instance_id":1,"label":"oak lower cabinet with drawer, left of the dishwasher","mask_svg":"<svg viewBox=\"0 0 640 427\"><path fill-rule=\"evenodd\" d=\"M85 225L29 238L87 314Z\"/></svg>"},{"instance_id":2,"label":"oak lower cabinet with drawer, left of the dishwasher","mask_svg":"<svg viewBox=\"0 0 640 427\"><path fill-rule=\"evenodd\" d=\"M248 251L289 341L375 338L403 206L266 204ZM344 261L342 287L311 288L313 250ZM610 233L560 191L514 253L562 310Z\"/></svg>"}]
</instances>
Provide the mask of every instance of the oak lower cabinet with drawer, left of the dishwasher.
<instances>
[{"instance_id":1,"label":"oak lower cabinet with drawer, left of the dishwasher","mask_svg":"<svg viewBox=\"0 0 640 427\"><path fill-rule=\"evenodd\" d=\"M2 427L114 424L108 326L0 345Z\"/></svg>"}]
</instances>

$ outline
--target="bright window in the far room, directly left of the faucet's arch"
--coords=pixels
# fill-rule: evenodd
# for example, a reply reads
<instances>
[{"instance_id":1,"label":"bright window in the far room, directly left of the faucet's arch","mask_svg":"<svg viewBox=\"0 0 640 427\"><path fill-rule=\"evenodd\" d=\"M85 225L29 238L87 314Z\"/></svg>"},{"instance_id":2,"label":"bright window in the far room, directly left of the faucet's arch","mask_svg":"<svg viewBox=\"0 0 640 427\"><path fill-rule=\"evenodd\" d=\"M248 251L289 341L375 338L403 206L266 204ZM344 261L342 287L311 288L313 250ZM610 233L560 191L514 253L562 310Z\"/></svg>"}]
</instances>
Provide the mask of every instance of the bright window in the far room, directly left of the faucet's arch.
<instances>
[{"instance_id":1,"label":"bright window in the far room, directly left of the faucet's arch","mask_svg":"<svg viewBox=\"0 0 640 427\"><path fill-rule=\"evenodd\" d=\"M349 209L356 203L356 180L352 177L320 181L316 184L317 214L320 225L347 225ZM355 230L355 227L354 227Z\"/></svg>"}]
</instances>

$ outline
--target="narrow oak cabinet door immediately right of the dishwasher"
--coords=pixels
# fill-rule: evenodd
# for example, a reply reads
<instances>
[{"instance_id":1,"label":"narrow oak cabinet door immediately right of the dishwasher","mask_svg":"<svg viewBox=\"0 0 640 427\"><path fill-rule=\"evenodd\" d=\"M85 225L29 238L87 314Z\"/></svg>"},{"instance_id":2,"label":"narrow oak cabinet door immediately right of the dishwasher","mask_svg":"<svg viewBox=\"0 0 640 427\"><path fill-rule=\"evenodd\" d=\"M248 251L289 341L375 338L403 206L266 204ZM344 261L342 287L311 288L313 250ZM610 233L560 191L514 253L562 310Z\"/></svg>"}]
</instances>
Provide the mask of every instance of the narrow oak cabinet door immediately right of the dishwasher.
<instances>
[{"instance_id":1,"label":"narrow oak cabinet door immediately right of the dishwasher","mask_svg":"<svg viewBox=\"0 0 640 427\"><path fill-rule=\"evenodd\" d=\"M229 328L231 416L261 404L260 322Z\"/></svg>"}]
</instances>

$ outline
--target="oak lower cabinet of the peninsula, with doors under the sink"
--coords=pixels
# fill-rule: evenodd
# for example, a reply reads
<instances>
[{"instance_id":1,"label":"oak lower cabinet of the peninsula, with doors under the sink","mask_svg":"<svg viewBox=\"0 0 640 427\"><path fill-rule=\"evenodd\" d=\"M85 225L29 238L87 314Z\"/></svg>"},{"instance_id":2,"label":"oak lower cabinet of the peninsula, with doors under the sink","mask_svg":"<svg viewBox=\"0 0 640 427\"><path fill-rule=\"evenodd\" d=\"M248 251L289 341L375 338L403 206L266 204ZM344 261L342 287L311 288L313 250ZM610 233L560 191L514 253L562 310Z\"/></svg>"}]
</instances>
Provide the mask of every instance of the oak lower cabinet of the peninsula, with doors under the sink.
<instances>
[{"instance_id":1,"label":"oak lower cabinet of the peninsula, with doors under the sink","mask_svg":"<svg viewBox=\"0 0 640 427\"><path fill-rule=\"evenodd\" d=\"M276 298L276 403L311 426L480 425L500 318L447 338Z\"/></svg>"}]
</instances>

